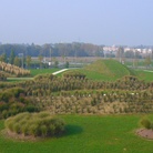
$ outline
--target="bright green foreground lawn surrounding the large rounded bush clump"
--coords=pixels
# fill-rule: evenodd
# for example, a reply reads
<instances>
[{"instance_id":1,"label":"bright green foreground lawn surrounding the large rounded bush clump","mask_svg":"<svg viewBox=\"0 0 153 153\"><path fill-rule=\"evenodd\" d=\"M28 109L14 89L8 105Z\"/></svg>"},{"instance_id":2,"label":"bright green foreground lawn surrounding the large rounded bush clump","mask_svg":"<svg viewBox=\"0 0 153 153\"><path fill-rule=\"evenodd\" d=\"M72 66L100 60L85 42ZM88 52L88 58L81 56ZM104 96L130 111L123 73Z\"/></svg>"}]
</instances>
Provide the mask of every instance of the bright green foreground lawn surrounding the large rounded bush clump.
<instances>
[{"instance_id":1,"label":"bright green foreground lawn surrounding the large rounded bush clump","mask_svg":"<svg viewBox=\"0 0 153 153\"><path fill-rule=\"evenodd\" d=\"M153 141L134 134L143 115L61 115L67 122L62 137L19 142L0 135L1 153L151 153ZM149 115L153 120L153 114ZM0 121L0 130L3 121Z\"/></svg>"}]
</instances>

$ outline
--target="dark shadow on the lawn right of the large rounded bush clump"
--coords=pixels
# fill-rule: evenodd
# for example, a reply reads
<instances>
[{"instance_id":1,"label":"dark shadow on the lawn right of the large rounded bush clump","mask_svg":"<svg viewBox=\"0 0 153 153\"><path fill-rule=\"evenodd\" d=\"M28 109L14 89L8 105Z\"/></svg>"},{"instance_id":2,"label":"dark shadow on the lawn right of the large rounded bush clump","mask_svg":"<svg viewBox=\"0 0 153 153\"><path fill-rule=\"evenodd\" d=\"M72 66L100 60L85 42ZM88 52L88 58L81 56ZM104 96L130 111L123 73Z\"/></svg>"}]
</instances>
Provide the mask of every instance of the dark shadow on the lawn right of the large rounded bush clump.
<instances>
[{"instance_id":1,"label":"dark shadow on the lawn right of the large rounded bush clump","mask_svg":"<svg viewBox=\"0 0 153 153\"><path fill-rule=\"evenodd\" d=\"M83 129L81 126L68 124L65 126L64 136L75 135L75 134L80 134L82 132L83 132Z\"/></svg>"}]
</instances>

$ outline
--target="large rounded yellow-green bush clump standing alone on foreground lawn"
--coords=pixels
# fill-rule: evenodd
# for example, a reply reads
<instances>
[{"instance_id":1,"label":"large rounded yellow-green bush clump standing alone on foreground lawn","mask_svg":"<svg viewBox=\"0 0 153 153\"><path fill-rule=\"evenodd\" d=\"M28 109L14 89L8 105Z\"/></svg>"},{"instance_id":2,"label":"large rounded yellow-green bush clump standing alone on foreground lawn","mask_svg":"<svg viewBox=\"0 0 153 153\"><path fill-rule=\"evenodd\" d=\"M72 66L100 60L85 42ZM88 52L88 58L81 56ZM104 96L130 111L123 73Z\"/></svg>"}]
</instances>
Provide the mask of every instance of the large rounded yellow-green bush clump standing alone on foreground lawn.
<instances>
[{"instance_id":1,"label":"large rounded yellow-green bush clump standing alone on foreground lawn","mask_svg":"<svg viewBox=\"0 0 153 153\"><path fill-rule=\"evenodd\" d=\"M52 116L48 112L20 113L7 119L4 124L7 130L11 132L34 137L62 134L65 125L63 120Z\"/></svg>"}]
</instances>

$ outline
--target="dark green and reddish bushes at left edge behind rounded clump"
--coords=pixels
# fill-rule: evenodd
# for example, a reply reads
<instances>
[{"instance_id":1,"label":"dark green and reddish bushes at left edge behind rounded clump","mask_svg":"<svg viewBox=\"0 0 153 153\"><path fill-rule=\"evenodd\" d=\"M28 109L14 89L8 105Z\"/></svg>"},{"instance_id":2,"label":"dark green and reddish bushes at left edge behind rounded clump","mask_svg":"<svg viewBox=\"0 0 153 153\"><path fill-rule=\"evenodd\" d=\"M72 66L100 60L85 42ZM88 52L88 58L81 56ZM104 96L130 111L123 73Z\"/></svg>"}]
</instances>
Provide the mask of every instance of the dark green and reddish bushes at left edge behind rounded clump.
<instances>
[{"instance_id":1,"label":"dark green and reddish bushes at left edge behind rounded clump","mask_svg":"<svg viewBox=\"0 0 153 153\"><path fill-rule=\"evenodd\" d=\"M21 88L11 88L0 92L0 119L16 115L20 112L38 112L29 98L26 98L24 90Z\"/></svg>"}]
</instances>

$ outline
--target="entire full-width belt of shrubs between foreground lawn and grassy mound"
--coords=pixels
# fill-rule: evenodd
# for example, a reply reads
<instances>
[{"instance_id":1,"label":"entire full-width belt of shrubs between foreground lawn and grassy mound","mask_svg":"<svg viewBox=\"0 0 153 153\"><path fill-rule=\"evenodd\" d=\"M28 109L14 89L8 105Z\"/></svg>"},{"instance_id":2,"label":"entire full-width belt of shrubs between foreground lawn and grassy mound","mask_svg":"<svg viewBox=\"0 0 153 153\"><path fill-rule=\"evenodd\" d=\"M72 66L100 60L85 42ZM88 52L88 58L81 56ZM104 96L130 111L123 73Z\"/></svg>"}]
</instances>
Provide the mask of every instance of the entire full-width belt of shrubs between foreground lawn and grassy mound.
<instances>
[{"instance_id":1,"label":"entire full-width belt of shrubs between foreground lawn and grassy mound","mask_svg":"<svg viewBox=\"0 0 153 153\"><path fill-rule=\"evenodd\" d=\"M65 72L62 78L45 74L26 82L10 83L10 86L1 83L0 86L1 118L26 110L50 110L58 114L153 111L153 83L131 75L115 82L100 82L89 80L82 73Z\"/></svg>"}]
</instances>

